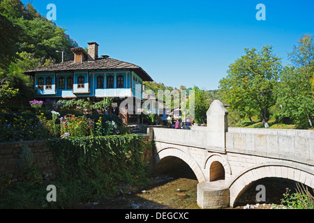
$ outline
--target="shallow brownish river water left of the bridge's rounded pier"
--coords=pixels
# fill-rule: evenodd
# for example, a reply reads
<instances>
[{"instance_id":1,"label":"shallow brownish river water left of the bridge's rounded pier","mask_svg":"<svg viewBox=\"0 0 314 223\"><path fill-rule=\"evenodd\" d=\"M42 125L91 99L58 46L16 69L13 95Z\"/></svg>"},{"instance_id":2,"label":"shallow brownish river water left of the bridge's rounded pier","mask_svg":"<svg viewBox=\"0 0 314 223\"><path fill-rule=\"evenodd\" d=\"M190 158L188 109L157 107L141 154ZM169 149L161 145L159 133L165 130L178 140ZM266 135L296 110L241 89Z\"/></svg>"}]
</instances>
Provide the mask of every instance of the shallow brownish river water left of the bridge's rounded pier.
<instances>
[{"instance_id":1,"label":"shallow brownish river water left of the bridge's rounded pier","mask_svg":"<svg viewBox=\"0 0 314 223\"><path fill-rule=\"evenodd\" d=\"M100 201L84 204L83 209L198 209L198 181L172 176L151 177L151 187L123 192Z\"/></svg>"}]
</instances>

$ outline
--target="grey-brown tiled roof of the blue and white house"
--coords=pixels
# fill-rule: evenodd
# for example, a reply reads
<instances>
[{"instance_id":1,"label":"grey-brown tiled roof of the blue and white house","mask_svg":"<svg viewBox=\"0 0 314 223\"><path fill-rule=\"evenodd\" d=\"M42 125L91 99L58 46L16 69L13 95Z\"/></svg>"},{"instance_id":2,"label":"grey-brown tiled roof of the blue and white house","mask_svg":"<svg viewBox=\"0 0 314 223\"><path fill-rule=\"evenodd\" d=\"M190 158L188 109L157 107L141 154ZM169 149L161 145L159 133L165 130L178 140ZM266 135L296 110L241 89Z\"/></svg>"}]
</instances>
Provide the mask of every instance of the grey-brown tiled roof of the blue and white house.
<instances>
[{"instance_id":1,"label":"grey-brown tiled roof of the blue and white house","mask_svg":"<svg viewBox=\"0 0 314 223\"><path fill-rule=\"evenodd\" d=\"M34 72L54 72L66 70L107 70L107 69L131 69L139 75L143 81L153 81L151 77L140 66L133 63L118 61L111 58L99 58L95 61L83 61L82 63L74 63L74 61L66 61L64 63L57 63L50 66L26 70L26 74Z\"/></svg>"}]
</instances>

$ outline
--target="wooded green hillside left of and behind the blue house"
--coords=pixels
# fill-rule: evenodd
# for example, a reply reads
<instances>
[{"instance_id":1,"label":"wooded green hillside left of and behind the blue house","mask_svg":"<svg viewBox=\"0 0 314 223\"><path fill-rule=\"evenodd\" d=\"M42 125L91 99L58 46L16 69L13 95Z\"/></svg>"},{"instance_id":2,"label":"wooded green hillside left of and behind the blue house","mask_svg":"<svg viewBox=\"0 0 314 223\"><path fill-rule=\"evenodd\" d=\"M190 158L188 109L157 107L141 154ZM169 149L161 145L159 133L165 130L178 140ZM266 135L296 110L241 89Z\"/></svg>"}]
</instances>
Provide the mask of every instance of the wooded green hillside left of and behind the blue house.
<instances>
[{"instance_id":1,"label":"wooded green hillside left of and behind the blue house","mask_svg":"<svg viewBox=\"0 0 314 223\"><path fill-rule=\"evenodd\" d=\"M64 60L73 59L70 48L77 47L77 43L66 29L40 15L31 3L0 0L0 101L33 98L33 81L24 70L61 62L56 50L62 47Z\"/></svg>"}]
</instances>

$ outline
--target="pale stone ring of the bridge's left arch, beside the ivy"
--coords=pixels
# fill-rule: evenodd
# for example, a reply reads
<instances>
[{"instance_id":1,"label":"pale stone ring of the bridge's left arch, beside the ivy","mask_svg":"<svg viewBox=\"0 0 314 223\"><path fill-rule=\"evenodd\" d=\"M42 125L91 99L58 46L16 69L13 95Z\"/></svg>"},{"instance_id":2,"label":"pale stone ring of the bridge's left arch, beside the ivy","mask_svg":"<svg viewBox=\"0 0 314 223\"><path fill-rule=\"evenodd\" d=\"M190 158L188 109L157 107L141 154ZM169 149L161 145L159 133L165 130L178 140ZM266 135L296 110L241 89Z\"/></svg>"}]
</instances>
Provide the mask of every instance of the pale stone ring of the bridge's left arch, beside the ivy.
<instances>
[{"instance_id":1,"label":"pale stone ring of the bridge's left arch, beside the ivy","mask_svg":"<svg viewBox=\"0 0 314 223\"><path fill-rule=\"evenodd\" d=\"M186 164L188 164L190 169L193 170L198 182L203 182L206 180L202 172L202 169L197 164L197 162L193 159L193 157L190 156L188 153L185 153L181 149L174 148L174 147L167 147L167 148L163 148L157 151L157 154L154 157L155 167L158 164L158 162L160 162L160 160L162 160L165 157L178 157L179 159L186 162Z\"/></svg>"}]
</instances>

